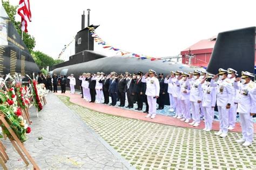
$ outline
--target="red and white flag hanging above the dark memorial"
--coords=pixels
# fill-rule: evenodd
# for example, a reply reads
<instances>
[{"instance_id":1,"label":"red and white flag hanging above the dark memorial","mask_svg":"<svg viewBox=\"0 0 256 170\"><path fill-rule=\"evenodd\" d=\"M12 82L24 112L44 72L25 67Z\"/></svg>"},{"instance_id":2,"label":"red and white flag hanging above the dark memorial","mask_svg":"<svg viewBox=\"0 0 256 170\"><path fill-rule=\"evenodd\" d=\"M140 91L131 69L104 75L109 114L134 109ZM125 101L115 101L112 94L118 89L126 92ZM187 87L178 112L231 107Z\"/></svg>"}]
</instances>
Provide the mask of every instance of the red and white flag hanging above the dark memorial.
<instances>
[{"instance_id":1,"label":"red and white flag hanging above the dark memorial","mask_svg":"<svg viewBox=\"0 0 256 170\"><path fill-rule=\"evenodd\" d=\"M29 0L20 0L18 6L18 15L22 17L21 29L24 32L28 32L26 27L28 27L28 22L31 22L31 11Z\"/></svg>"}]
</instances>

